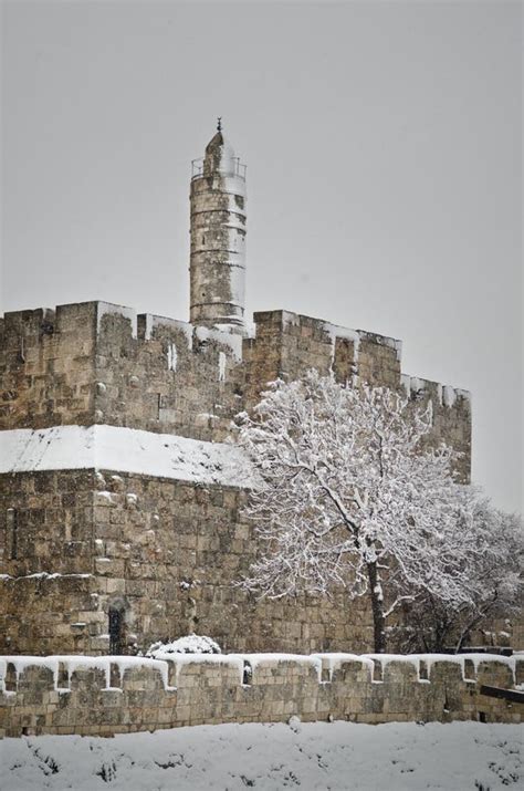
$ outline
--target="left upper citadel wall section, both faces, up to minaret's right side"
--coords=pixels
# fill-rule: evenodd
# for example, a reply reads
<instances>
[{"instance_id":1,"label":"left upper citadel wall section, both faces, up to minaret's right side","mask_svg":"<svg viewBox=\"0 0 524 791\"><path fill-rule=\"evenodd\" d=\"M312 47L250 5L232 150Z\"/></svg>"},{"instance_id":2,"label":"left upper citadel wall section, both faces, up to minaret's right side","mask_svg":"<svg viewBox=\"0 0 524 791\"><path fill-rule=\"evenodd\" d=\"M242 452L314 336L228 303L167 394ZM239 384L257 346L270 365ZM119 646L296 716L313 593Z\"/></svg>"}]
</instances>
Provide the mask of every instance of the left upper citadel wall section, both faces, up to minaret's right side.
<instances>
[{"instance_id":1,"label":"left upper citadel wall section, both faces, up to minaret's right side","mask_svg":"<svg viewBox=\"0 0 524 791\"><path fill-rule=\"evenodd\" d=\"M223 439L242 337L105 302L7 313L0 429L109 424ZM240 406L239 406L240 404Z\"/></svg>"}]
</instances>

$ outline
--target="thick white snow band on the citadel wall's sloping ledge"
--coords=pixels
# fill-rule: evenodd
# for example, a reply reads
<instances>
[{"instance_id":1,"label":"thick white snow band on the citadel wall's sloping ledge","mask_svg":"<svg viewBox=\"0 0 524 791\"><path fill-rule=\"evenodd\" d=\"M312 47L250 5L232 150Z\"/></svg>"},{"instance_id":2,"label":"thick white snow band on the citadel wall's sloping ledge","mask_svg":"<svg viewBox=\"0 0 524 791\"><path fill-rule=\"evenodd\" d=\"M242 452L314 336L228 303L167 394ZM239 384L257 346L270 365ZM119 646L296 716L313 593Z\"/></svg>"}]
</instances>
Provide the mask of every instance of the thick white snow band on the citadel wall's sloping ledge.
<instances>
[{"instance_id":1,"label":"thick white snow band on the citadel wall's sloping ledge","mask_svg":"<svg viewBox=\"0 0 524 791\"><path fill-rule=\"evenodd\" d=\"M247 486L234 445L119 426L0 431L0 473L103 469L221 486Z\"/></svg>"}]
</instances>

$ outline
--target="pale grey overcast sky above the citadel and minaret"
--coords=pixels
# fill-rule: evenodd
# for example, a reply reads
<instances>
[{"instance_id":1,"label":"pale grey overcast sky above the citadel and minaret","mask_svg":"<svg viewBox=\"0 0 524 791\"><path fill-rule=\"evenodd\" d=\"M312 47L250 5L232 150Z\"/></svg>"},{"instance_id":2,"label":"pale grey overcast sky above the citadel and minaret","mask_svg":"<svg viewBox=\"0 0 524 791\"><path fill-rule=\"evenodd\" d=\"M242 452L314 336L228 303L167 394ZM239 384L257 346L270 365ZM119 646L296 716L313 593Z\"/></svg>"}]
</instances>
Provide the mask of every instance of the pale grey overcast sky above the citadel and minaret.
<instances>
[{"instance_id":1,"label":"pale grey overcast sky above the citadel and minaret","mask_svg":"<svg viewBox=\"0 0 524 791\"><path fill-rule=\"evenodd\" d=\"M404 341L522 502L520 2L4 2L3 310L188 318L190 160L248 164L248 311Z\"/></svg>"}]
</instances>

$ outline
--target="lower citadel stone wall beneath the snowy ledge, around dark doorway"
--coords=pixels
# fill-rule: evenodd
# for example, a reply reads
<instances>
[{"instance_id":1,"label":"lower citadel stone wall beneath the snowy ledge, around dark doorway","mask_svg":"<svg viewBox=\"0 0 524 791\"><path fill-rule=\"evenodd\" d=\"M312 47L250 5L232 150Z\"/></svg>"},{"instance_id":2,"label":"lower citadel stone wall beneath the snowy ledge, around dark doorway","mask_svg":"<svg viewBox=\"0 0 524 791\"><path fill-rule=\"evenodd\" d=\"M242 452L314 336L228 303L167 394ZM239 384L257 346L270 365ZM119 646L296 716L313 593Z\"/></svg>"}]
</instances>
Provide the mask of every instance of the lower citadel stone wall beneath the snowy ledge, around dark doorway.
<instances>
[{"instance_id":1,"label":"lower citadel stone wall beneath the snowy ledge, around dark doorway","mask_svg":"<svg viewBox=\"0 0 524 791\"><path fill-rule=\"evenodd\" d=\"M124 614L126 652L190 632L226 651L373 645L365 600L256 601L233 585L256 551L241 489L90 470L18 473L8 485L20 538L10 559L2 522L0 652L107 654L113 606Z\"/></svg>"}]
</instances>

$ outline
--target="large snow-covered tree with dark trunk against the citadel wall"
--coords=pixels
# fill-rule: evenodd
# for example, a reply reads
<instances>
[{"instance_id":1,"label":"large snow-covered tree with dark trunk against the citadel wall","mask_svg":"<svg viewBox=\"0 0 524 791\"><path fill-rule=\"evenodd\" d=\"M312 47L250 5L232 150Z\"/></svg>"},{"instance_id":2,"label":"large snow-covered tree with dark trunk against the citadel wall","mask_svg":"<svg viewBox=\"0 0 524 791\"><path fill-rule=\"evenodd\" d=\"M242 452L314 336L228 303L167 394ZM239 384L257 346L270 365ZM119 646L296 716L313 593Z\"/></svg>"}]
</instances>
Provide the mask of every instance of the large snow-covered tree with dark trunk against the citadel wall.
<instances>
[{"instance_id":1,"label":"large snow-covered tree with dark trunk against the citadel wall","mask_svg":"<svg viewBox=\"0 0 524 791\"><path fill-rule=\"evenodd\" d=\"M274 599L338 585L368 594L376 652L386 618L421 589L461 601L464 562L482 548L457 531L471 503L454 451L420 447L431 424L430 407L413 412L386 388L346 388L315 371L274 383L241 420L261 547L243 585Z\"/></svg>"}]
</instances>

